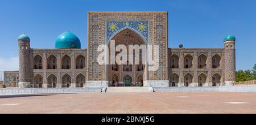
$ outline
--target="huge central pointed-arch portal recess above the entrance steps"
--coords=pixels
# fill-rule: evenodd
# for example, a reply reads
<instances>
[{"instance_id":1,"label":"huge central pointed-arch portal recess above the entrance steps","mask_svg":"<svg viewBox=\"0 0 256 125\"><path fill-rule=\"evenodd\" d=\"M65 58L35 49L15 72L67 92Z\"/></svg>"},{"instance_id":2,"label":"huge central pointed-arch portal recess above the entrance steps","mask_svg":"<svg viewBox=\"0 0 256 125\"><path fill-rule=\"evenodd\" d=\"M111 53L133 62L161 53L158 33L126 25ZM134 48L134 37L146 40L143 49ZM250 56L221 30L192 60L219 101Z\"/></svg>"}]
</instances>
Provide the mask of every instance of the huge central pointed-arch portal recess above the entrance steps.
<instances>
[{"instance_id":1,"label":"huge central pointed-arch portal recess above the entrance steps","mask_svg":"<svg viewBox=\"0 0 256 125\"><path fill-rule=\"evenodd\" d=\"M137 31L132 30L131 28L124 28L122 31L119 31L115 34L115 36L111 37L111 40L115 40L115 47L117 45L125 45L126 48L129 48L129 45L145 45L146 41L144 41L144 38L139 35ZM109 51L110 51L110 44ZM133 50L134 51L134 50ZM115 51L115 56L119 54L119 51ZM110 86L113 86L113 81L117 81L119 86L141 86L143 85L143 80L146 80L145 77L147 74L146 66L142 63L137 64L135 61L135 53L133 52L133 63L130 63L127 61L126 64L120 64L118 65L116 62L115 64L112 64L112 62L115 61L115 59L111 59L109 53L109 64L106 66L108 68L108 81L110 83ZM142 50L139 51L139 61L142 60ZM129 50L127 50L127 59L129 58ZM139 67L139 68L138 68ZM145 68L144 68L145 67ZM113 75L118 74L118 75ZM138 77L138 74L141 74ZM139 81L138 81L139 79ZM111 84L112 83L112 84ZM138 84L141 83L141 84Z\"/></svg>"}]
</instances>

